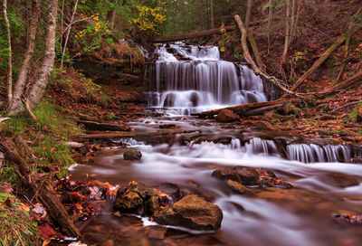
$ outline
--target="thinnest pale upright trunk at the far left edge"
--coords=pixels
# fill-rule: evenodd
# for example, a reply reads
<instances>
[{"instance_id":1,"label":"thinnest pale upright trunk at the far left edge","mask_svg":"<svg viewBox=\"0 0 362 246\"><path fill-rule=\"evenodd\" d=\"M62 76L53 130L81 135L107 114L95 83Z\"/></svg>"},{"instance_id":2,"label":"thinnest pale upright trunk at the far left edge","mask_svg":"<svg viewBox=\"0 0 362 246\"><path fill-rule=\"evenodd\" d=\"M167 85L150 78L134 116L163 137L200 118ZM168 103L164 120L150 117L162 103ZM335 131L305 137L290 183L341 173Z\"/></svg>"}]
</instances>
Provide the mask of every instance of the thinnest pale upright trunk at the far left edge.
<instances>
[{"instance_id":1,"label":"thinnest pale upright trunk at the far left edge","mask_svg":"<svg viewBox=\"0 0 362 246\"><path fill-rule=\"evenodd\" d=\"M10 23L7 18L6 0L3 0L4 20L7 29L8 61L7 61L7 103L10 106L13 99L13 53L11 47Z\"/></svg>"}]
</instances>

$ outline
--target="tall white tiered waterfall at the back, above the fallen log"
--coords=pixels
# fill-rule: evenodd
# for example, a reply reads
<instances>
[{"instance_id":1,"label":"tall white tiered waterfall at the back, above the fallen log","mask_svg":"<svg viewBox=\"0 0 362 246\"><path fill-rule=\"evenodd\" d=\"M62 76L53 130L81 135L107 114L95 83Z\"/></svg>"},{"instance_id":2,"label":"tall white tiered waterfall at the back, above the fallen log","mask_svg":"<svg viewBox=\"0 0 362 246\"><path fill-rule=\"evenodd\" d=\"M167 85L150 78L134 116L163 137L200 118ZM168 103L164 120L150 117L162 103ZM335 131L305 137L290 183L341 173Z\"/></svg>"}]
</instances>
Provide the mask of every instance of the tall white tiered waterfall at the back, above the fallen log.
<instances>
[{"instance_id":1,"label":"tall white tiered waterfall at the back, above the fallen log","mask_svg":"<svg viewBox=\"0 0 362 246\"><path fill-rule=\"evenodd\" d=\"M262 79L247 66L220 60L216 46L163 44L156 53L155 86L148 92L151 108L188 115L267 100Z\"/></svg>"}]
</instances>

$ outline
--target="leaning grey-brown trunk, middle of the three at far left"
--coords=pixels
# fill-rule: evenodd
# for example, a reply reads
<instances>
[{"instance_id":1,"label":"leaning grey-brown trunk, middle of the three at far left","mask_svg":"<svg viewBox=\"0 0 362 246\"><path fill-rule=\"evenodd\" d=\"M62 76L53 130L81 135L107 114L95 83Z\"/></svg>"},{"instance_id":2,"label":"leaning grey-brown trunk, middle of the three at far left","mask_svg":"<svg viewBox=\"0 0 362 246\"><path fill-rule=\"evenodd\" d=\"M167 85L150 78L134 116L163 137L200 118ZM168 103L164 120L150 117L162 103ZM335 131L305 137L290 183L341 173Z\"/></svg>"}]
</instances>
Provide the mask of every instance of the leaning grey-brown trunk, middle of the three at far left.
<instances>
[{"instance_id":1,"label":"leaning grey-brown trunk, middle of the three at far left","mask_svg":"<svg viewBox=\"0 0 362 246\"><path fill-rule=\"evenodd\" d=\"M32 60L33 57L36 29L38 26L39 15L40 15L39 0L32 0L32 13L30 18L30 26L28 29L29 42L27 43L26 52L24 54L24 61L22 64L22 68L20 69L19 76L14 86L14 98L12 100L9 109L9 115L17 115L24 110L24 106L22 103L22 96L28 78L30 61Z\"/></svg>"}]
</instances>

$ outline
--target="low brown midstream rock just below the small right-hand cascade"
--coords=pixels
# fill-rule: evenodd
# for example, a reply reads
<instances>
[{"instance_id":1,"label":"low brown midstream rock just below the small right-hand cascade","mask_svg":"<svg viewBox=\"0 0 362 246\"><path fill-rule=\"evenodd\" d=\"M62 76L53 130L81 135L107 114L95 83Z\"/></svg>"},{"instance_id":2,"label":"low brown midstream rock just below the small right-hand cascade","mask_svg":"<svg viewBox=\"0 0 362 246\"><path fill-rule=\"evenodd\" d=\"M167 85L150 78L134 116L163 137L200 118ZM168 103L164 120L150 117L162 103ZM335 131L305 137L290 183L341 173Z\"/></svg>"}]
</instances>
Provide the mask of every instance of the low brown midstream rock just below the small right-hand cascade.
<instances>
[{"instance_id":1,"label":"low brown midstream rock just below the small right-hand cascade","mask_svg":"<svg viewBox=\"0 0 362 246\"><path fill-rule=\"evenodd\" d=\"M231 179L242 185L258 185L259 181L258 171L249 166L216 169L212 175L219 179Z\"/></svg>"}]
</instances>

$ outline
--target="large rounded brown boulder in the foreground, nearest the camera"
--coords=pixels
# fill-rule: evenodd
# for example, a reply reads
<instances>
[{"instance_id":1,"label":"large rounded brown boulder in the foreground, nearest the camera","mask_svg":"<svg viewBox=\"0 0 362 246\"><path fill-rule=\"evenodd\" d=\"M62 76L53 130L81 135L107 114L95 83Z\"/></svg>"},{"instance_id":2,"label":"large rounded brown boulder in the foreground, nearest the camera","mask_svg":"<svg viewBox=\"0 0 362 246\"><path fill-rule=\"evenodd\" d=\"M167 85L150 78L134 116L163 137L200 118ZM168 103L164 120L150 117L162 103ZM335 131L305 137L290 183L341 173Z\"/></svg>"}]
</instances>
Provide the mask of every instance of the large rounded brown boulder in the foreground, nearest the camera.
<instances>
[{"instance_id":1,"label":"large rounded brown boulder in the foreground, nearest the camera","mask_svg":"<svg viewBox=\"0 0 362 246\"><path fill-rule=\"evenodd\" d=\"M160 224L210 231L220 229L223 212L217 205L192 194L166 207L154 219Z\"/></svg>"}]
</instances>

